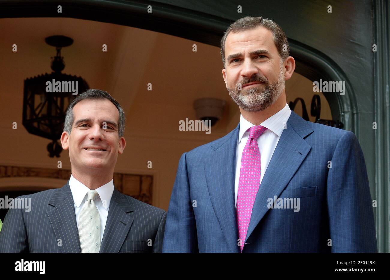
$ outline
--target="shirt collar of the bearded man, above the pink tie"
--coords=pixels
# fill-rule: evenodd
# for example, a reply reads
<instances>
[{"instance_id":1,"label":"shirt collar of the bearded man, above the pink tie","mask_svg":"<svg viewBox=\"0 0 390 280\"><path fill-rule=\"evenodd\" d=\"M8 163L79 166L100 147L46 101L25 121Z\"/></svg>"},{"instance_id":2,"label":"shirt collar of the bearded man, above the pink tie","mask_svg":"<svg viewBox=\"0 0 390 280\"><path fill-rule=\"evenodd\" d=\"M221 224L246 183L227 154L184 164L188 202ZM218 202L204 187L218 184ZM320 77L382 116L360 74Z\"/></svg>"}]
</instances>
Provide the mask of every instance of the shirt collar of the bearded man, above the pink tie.
<instances>
[{"instance_id":1,"label":"shirt collar of the bearded man, above the pink tie","mask_svg":"<svg viewBox=\"0 0 390 280\"><path fill-rule=\"evenodd\" d=\"M271 115L271 117L263 121L260 125L266 127L267 130L272 131L273 133L278 135L278 137L280 137L280 135L282 135L282 132L284 130L283 123L285 122L287 124L290 115L291 115L291 109L289 105L286 103L286 105L283 107L282 110ZM240 114L240 131L238 135L238 143L241 142L241 139L243 138L245 132L252 126L254 126L254 124L247 121L243 117L243 115ZM267 130L265 132L267 132Z\"/></svg>"}]
</instances>

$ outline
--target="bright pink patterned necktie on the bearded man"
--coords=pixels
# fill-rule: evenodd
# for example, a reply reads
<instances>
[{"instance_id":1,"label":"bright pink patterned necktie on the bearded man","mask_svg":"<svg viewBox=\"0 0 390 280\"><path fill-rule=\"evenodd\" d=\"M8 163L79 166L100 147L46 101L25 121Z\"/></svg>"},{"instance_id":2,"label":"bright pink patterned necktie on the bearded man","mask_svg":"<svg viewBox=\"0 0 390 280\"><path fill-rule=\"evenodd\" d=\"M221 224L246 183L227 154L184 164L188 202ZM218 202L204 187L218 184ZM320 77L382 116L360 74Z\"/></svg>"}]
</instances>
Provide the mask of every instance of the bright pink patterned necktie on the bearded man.
<instances>
[{"instance_id":1,"label":"bright pink patterned necktie on the bearded man","mask_svg":"<svg viewBox=\"0 0 390 280\"><path fill-rule=\"evenodd\" d=\"M237 194L237 224L239 238L241 239L241 252L244 248L246 231L248 230L253 204L260 187L260 150L257 145L257 138L266 129L266 127L260 125L252 126L248 129L249 138L241 158L240 180Z\"/></svg>"}]
</instances>

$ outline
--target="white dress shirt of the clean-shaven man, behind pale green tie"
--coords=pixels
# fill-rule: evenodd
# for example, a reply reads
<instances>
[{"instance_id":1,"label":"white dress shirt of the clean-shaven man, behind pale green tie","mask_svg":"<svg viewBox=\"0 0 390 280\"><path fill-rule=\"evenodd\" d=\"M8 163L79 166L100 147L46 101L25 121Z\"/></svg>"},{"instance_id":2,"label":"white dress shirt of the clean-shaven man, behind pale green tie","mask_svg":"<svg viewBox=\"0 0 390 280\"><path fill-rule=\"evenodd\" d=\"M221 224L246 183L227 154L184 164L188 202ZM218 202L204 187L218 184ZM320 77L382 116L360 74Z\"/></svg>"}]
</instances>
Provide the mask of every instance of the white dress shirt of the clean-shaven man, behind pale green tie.
<instances>
[{"instance_id":1,"label":"white dress shirt of the clean-shaven man, behind pale green tie","mask_svg":"<svg viewBox=\"0 0 390 280\"><path fill-rule=\"evenodd\" d=\"M84 203L87 201L87 193L90 190L87 186L83 185L80 181L74 179L71 175L69 180L69 186L73 195L74 211L76 213L76 222L78 226L78 218L80 217L81 210ZM106 228L106 221L108 216L108 208L110 207L110 201L112 193L114 192L113 180L107 184L98 187L96 189L99 197L95 198L94 202L99 211L100 216L100 242L103 240L104 229Z\"/></svg>"}]
</instances>

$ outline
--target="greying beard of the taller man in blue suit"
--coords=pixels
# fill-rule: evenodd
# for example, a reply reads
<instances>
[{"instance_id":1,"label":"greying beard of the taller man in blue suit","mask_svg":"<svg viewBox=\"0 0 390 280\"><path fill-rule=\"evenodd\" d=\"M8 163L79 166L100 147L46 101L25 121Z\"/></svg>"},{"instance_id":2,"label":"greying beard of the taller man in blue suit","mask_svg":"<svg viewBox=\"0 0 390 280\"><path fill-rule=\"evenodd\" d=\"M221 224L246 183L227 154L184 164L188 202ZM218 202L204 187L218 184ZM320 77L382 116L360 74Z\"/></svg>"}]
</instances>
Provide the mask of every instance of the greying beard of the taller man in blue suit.
<instances>
[{"instance_id":1,"label":"greying beard of the taller man in blue suit","mask_svg":"<svg viewBox=\"0 0 390 280\"><path fill-rule=\"evenodd\" d=\"M236 104L247 112L260 112L271 106L278 100L285 85L284 73L281 70L277 82L271 84L264 82L257 87L252 87L242 93L236 88L228 88L229 95ZM261 89L261 87L264 87Z\"/></svg>"}]
</instances>

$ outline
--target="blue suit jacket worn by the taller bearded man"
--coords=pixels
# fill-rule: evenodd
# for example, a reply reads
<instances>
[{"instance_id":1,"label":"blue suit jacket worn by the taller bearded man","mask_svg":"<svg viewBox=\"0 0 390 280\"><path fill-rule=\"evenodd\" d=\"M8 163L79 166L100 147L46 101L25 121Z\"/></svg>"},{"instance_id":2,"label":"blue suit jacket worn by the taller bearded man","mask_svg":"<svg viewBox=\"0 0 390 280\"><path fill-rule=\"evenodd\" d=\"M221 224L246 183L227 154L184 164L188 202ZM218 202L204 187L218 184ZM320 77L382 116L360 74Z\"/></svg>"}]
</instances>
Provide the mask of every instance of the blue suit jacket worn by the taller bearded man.
<instances>
[{"instance_id":1,"label":"blue suit jacket worn by the taller bearded man","mask_svg":"<svg viewBox=\"0 0 390 280\"><path fill-rule=\"evenodd\" d=\"M240 252L238 133L239 124L181 156L163 252ZM270 208L275 196L299 198L300 210ZM367 171L353 132L291 112L255 198L243 252L377 252Z\"/></svg>"}]
</instances>

